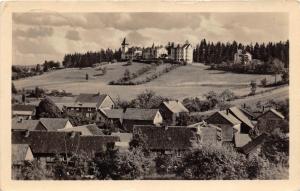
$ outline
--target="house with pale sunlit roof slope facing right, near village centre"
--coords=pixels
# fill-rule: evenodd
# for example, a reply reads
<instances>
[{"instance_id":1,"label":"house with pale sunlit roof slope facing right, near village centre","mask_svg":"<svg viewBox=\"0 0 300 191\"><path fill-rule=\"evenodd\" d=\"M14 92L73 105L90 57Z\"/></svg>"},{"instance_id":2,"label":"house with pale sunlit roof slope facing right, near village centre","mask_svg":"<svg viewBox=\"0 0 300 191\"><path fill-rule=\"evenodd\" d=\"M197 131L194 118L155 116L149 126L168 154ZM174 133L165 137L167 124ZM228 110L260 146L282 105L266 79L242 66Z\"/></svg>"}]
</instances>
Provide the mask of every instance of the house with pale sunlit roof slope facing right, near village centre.
<instances>
[{"instance_id":1,"label":"house with pale sunlit roof slope facing right, near village centre","mask_svg":"<svg viewBox=\"0 0 300 191\"><path fill-rule=\"evenodd\" d=\"M164 101L159 106L159 112L166 123L170 125L176 125L176 119L179 117L179 115L182 113L189 113L189 110L177 100Z\"/></svg>"}]
</instances>

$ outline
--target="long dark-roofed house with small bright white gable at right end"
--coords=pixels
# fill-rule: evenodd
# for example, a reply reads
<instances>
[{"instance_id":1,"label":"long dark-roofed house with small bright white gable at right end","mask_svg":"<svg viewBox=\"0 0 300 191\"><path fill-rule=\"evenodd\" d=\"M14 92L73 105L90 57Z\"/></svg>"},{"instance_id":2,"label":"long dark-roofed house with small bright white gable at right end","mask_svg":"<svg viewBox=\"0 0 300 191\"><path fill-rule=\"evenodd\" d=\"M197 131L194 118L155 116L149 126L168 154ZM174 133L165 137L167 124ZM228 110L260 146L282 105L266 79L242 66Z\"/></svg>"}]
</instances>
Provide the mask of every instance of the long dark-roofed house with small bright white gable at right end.
<instances>
[{"instance_id":1,"label":"long dark-roofed house with small bright white gable at right end","mask_svg":"<svg viewBox=\"0 0 300 191\"><path fill-rule=\"evenodd\" d=\"M134 125L160 125L163 118L158 109L127 108L124 111L122 126L132 132Z\"/></svg>"}]
</instances>

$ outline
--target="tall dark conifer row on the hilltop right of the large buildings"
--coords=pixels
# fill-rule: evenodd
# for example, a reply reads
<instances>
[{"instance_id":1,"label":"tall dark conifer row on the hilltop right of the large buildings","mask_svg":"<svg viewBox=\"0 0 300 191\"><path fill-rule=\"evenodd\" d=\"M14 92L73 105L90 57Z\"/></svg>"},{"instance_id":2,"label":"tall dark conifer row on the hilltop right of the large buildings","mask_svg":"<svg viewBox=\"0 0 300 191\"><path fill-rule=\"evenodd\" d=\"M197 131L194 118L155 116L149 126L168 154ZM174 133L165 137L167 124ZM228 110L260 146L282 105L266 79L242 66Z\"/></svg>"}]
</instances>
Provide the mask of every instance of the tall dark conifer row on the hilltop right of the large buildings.
<instances>
[{"instance_id":1,"label":"tall dark conifer row on the hilltop right of the large buildings","mask_svg":"<svg viewBox=\"0 0 300 191\"><path fill-rule=\"evenodd\" d=\"M194 49L194 61L206 64L220 64L223 61L233 61L237 49L249 52L253 59L267 62L270 57L278 58L285 64L286 68L289 66L289 41L245 45L236 41L224 44L221 42L206 42L206 39L203 39Z\"/></svg>"}]
</instances>

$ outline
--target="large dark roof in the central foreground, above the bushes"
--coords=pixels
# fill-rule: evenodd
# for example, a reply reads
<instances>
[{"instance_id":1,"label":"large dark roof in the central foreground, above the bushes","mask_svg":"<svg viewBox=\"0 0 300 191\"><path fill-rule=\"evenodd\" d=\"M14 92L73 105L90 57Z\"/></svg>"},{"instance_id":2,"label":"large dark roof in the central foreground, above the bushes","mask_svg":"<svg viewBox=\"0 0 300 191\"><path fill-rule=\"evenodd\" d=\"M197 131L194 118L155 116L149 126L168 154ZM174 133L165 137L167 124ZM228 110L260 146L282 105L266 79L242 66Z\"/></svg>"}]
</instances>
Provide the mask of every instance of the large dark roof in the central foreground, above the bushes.
<instances>
[{"instance_id":1,"label":"large dark roof in the central foreground, above the bushes","mask_svg":"<svg viewBox=\"0 0 300 191\"><path fill-rule=\"evenodd\" d=\"M197 139L195 128L182 126L135 125L133 137L140 135L151 150L187 150L193 146L192 139Z\"/></svg>"}]
</instances>

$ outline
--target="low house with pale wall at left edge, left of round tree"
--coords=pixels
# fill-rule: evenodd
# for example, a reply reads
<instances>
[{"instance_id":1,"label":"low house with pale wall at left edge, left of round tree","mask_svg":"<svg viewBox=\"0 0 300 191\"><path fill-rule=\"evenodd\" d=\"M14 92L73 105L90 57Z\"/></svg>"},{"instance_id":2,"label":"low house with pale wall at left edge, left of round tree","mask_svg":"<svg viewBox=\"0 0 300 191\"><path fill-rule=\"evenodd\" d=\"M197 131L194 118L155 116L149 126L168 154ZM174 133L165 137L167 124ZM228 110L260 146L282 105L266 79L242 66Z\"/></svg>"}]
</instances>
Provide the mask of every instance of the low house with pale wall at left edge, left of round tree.
<instances>
[{"instance_id":1,"label":"low house with pale wall at left edge, left of round tree","mask_svg":"<svg viewBox=\"0 0 300 191\"><path fill-rule=\"evenodd\" d=\"M15 104L12 106L12 117L18 119L33 119L36 114L35 105Z\"/></svg>"}]
</instances>

